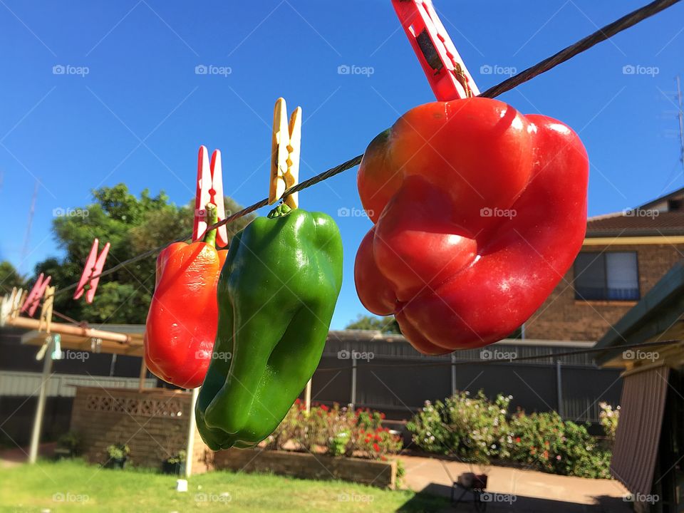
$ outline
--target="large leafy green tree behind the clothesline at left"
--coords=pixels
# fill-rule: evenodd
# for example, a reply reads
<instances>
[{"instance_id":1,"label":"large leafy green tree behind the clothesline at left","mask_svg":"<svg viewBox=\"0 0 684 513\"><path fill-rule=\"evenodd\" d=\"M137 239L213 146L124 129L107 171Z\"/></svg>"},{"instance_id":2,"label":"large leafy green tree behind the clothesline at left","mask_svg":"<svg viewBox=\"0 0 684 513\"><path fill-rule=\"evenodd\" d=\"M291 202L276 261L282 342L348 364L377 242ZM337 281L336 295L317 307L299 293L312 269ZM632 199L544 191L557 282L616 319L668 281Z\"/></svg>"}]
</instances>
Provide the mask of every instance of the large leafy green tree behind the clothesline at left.
<instances>
[{"instance_id":1,"label":"large leafy green tree behind the clothesline at left","mask_svg":"<svg viewBox=\"0 0 684 513\"><path fill-rule=\"evenodd\" d=\"M226 199L227 210L239 209ZM178 207L163 193L151 196L143 190L140 197L124 184L101 187L93 191L93 203L74 212L80 216L57 217L53 222L58 247L66 252L63 259L48 258L36 266L36 275L44 272L59 286L71 284L81 277L83 264L93 239L111 247L104 269L128 260L192 232L194 202ZM243 217L230 225L229 235L242 229L252 217ZM73 291L57 294L55 310L91 323L145 323L155 287L155 257L135 261L113 274L103 277L93 304L83 299L73 301Z\"/></svg>"}]
</instances>

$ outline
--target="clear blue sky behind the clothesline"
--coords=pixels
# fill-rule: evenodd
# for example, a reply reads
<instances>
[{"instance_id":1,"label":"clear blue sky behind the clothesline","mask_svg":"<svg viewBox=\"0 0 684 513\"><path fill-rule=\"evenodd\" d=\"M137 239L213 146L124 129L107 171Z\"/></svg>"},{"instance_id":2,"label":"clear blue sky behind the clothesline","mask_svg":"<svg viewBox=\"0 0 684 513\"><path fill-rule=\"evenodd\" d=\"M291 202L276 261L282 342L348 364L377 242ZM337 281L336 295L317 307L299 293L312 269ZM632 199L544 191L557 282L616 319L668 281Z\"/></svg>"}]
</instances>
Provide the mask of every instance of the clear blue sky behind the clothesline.
<instances>
[{"instance_id":1,"label":"clear blue sky behind the clothesline","mask_svg":"<svg viewBox=\"0 0 684 513\"><path fill-rule=\"evenodd\" d=\"M505 77L481 66L521 71L647 1L435 5L484 90ZM433 99L389 0L0 0L0 44L0 259L27 274L58 254L53 209L87 204L95 187L125 182L187 202L200 144L222 150L227 195L242 204L264 197L279 96L304 110L301 180L363 152L401 113ZM684 186L673 103L683 63L679 4L501 99L579 131L591 160L589 214L613 212ZM88 74L53 74L60 65ZM231 73L197 75L198 65ZM340 75L343 65L373 74ZM624 66L643 68L625 74ZM355 171L300 198L341 229L346 274L333 318L341 328L364 311L353 260L371 223L337 216L361 208Z\"/></svg>"}]
</instances>

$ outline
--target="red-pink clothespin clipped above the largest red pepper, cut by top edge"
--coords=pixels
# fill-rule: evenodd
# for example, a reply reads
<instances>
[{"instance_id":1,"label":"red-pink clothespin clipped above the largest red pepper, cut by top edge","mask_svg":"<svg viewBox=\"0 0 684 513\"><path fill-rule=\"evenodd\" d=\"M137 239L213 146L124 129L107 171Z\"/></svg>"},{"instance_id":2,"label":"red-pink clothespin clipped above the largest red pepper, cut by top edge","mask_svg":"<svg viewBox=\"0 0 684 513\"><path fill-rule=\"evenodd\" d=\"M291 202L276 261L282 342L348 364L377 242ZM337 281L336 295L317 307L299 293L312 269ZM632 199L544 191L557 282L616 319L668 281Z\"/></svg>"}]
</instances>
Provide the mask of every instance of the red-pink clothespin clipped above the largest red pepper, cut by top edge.
<instances>
[{"instance_id":1,"label":"red-pink clothespin clipped above the largest red pepper, cut by top edge","mask_svg":"<svg viewBox=\"0 0 684 513\"><path fill-rule=\"evenodd\" d=\"M392 0L408 41L440 101L480 94L430 0Z\"/></svg>"}]
</instances>

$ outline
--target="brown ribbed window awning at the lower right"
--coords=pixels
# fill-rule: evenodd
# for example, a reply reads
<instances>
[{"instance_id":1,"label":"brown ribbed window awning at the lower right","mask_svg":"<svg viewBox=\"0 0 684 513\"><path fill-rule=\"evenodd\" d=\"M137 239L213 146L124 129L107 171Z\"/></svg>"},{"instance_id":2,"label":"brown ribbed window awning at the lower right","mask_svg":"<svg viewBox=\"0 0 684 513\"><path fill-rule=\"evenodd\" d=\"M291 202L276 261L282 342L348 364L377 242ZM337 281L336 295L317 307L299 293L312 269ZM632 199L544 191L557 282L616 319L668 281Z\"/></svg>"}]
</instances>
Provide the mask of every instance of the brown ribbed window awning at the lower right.
<instances>
[{"instance_id":1,"label":"brown ribbed window awning at the lower right","mask_svg":"<svg viewBox=\"0 0 684 513\"><path fill-rule=\"evenodd\" d=\"M611 474L633 494L650 494L668 391L666 366L624 375Z\"/></svg>"}]
</instances>

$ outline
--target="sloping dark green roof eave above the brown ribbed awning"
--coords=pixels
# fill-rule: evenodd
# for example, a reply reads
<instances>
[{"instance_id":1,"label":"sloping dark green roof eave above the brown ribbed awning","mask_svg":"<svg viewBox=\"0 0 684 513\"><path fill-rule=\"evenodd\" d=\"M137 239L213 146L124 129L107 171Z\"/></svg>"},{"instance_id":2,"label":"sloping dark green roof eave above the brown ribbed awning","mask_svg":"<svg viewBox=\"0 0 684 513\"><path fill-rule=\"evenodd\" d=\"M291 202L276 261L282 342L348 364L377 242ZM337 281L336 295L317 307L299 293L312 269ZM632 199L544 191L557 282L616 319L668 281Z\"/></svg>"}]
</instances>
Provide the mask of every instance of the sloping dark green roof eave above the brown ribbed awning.
<instances>
[{"instance_id":1,"label":"sloping dark green roof eave above the brown ribbed awning","mask_svg":"<svg viewBox=\"0 0 684 513\"><path fill-rule=\"evenodd\" d=\"M658 341L684 341L684 261L675 264L631 310L616 322L595 348L602 366L626 366L626 346ZM654 348L657 350L657 348Z\"/></svg>"}]
</instances>

